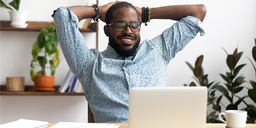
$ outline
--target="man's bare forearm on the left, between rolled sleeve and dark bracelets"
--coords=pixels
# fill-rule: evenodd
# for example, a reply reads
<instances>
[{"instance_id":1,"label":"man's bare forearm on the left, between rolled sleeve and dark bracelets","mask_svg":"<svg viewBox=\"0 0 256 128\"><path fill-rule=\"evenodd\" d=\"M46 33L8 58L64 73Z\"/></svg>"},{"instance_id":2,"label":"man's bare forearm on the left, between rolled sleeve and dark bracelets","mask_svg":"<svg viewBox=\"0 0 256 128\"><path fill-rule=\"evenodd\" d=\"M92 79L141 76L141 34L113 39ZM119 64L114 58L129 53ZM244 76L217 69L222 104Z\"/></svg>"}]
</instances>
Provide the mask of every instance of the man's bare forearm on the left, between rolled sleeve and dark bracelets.
<instances>
[{"instance_id":1,"label":"man's bare forearm on the left, between rolled sleeve and dark bracelets","mask_svg":"<svg viewBox=\"0 0 256 128\"><path fill-rule=\"evenodd\" d=\"M96 15L96 11L92 6L71 6L68 8L76 14L79 21Z\"/></svg>"}]
</instances>

